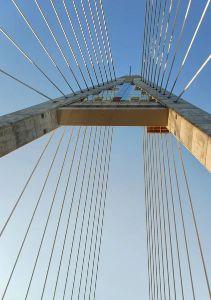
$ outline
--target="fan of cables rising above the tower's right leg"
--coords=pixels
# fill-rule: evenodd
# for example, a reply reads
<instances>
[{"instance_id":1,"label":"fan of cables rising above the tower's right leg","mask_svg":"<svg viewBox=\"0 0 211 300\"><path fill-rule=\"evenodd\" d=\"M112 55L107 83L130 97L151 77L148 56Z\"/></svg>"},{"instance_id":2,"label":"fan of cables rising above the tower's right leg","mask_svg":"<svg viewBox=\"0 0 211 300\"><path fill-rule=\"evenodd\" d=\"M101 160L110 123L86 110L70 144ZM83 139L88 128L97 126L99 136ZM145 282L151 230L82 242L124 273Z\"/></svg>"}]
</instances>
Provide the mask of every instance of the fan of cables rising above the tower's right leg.
<instances>
[{"instance_id":1,"label":"fan of cables rising above the tower's right leg","mask_svg":"<svg viewBox=\"0 0 211 300\"><path fill-rule=\"evenodd\" d=\"M206 6L203 10L203 13L201 15L201 18L199 20L199 23L195 29L195 32L193 34L193 37L191 39L191 42L189 44L188 50L185 54L185 57L182 61L182 64L180 66L180 69L178 71L178 74L175 78L175 81L173 83L173 86L171 88L171 91L167 91L167 87L169 84L169 79L172 73L172 69L175 63L175 58L178 53L178 48L181 42L181 37L184 31L185 23L188 17L188 13L190 11L191 2L192 0L189 0L188 6L186 9L186 13L184 16L182 28L180 31L180 35L177 41L176 49L173 55L173 59L171 62L171 66L169 69L168 77L166 80L166 84L164 84L164 76L167 69L168 59L171 50L172 40L175 33L175 27L176 22L178 18L178 12L181 4L181 0L178 0L177 2L177 8L174 15L174 21L172 24L172 31L171 34L168 35L168 31L170 30L170 18L172 15L172 6L173 6L173 0L170 1L169 4L169 11L167 11L167 0L164 0L164 4L162 6L162 0L160 0L160 3L158 3L158 0L146 0L146 9L145 9L145 22L144 22L144 38L143 38L143 50L142 50L142 65L141 65L141 80L147 84L150 84L150 86L153 86L156 90L159 90L159 92L162 92L164 95L167 95L168 97L171 97L171 94L173 92L173 89L176 85L176 82L179 78L179 75L181 73L181 70L185 64L185 61L188 57L188 54L191 50L191 47L194 43L195 37L199 31L200 25L203 21L203 18L206 14L206 11L209 7L210 0L207 1ZM163 9L162 9L163 8ZM166 18L165 15L168 14L168 17ZM165 24L166 20L166 24ZM157 27L155 29L155 24L157 22ZM160 35L159 35L159 28L160 28ZM169 45L168 45L168 38L169 36ZM165 51L166 46L168 45L168 50ZM166 59L165 59L166 57ZM202 64L202 66L199 68L199 70L196 72L196 74L193 76L193 78L190 80L190 82L186 85L186 87L183 89L181 94L178 96L176 101L182 96L182 94L185 92L185 90L190 86L190 84L194 81L194 79L197 77L197 75L200 73L200 71L205 67L205 65L208 63L208 61L211 59L211 54L209 57L205 60L205 62ZM165 62L164 62L165 61ZM163 73L162 73L163 69ZM159 86L160 84L160 86Z\"/></svg>"}]
</instances>

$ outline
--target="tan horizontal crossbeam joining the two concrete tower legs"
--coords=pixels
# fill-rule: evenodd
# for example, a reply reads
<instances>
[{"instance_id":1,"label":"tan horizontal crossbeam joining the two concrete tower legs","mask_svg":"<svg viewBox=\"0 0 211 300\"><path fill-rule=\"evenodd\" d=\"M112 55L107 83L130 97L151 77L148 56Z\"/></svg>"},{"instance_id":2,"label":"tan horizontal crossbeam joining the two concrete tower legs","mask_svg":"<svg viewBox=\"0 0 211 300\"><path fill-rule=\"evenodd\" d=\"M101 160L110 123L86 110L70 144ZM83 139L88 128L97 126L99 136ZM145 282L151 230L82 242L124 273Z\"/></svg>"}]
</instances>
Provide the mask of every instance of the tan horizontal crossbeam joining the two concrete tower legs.
<instances>
[{"instance_id":1,"label":"tan horizontal crossbeam joining the two concrete tower legs","mask_svg":"<svg viewBox=\"0 0 211 300\"><path fill-rule=\"evenodd\" d=\"M59 125L167 126L168 109L162 108L78 108L57 109Z\"/></svg>"}]
</instances>

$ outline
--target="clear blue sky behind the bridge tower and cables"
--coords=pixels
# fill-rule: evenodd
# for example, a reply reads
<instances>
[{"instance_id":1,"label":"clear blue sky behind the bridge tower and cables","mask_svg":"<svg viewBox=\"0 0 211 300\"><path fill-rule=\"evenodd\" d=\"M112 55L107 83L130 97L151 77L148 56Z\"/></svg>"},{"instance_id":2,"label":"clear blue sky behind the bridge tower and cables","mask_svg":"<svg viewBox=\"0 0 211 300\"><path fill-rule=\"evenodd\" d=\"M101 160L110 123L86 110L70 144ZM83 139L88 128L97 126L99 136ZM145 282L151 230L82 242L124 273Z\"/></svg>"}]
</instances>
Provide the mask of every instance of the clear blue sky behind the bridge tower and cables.
<instances>
[{"instance_id":1,"label":"clear blue sky behind the bridge tower and cables","mask_svg":"<svg viewBox=\"0 0 211 300\"><path fill-rule=\"evenodd\" d=\"M79 41L83 47L85 57L89 64L90 72L94 78L88 61L88 54L85 49L82 34L80 32L79 24L76 19L72 1L66 1L69 8L73 23L75 24L78 33ZM97 1L98 2L98 1ZM163 1L164 2L164 1ZM175 61L172 76L169 82L169 89L171 88L174 79L177 75L182 59L189 46L195 28L204 10L207 0L193 0L188 15L187 23L185 25L184 33L181 39L178 55ZM76 64L73 60L72 54L68 48L68 44L62 33L62 30L57 21L56 15L53 11L50 0L39 1L52 29L61 43L62 49L68 58L69 63L73 67L76 76L79 78L80 84L84 86L83 80L77 70ZM75 50L79 64L82 71L85 73L82 58L80 56L72 29L70 27L66 12L61 0L54 1L58 13L62 19L69 40ZM93 3L93 0L91 0ZM23 13L30 21L32 27L39 35L40 39L46 45L50 54L55 59L58 66L62 69L64 75L68 78L74 90L78 90L76 83L73 80L70 71L65 64L35 2L33 0L17 0L17 4L22 9ZM107 27L110 37L110 44L114 59L114 66L117 76L128 74L130 65L133 74L140 74L141 58L142 58L142 42L143 42L143 25L145 14L145 1L126 1L126 0L104 0L104 11L107 20ZM76 1L80 15L82 15L82 8L80 1ZM88 9L87 1L84 0L84 5L87 8L90 25L92 24ZM169 10L170 0L167 0L167 11ZM172 50L169 56L169 64L167 65L166 75L170 67L170 61L173 58L174 50L180 34L180 29L184 19L185 11L188 5L188 0L181 1L179 16L176 24L175 35L172 41ZM162 6L163 7L163 6ZM173 0L173 11L170 19L170 28L167 35L169 41L171 28L174 21L174 15L177 7L177 0ZM202 63L210 55L211 48L211 7L205 15L203 23L200 27L198 35L195 39L193 47L190 51L188 59L180 74L179 80L175 86L174 93L180 94L183 88L187 85ZM85 33L88 35L85 19L82 17L82 24L84 25ZM167 20L167 15L166 15ZM64 93L69 93L69 88L62 79L53 63L50 61L41 45L36 40L35 36L30 31L29 27L15 8L11 0L0 2L0 26L14 41L32 58L38 66L41 66L50 78L58 84L59 88ZM92 29L93 26L91 25ZM94 31L93 31L94 35ZM95 38L95 44L96 38ZM91 48L91 42L88 39ZM167 52L166 47L166 51ZM93 55L93 51L91 51ZM99 53L98 53L99 54ZM93 56L94 57L94 56ZM165 57L165 56L164 56ZM37 88L41 92L49 95L52 98L60 96L56 90L43 75L23 56L22 53L0 32L0 68L26 82L27 84ZM209 63L194 83L185 92L183 98L200 108L211 113L211 102L209 99L210 92L210 74L211 64ZM98 74L99 76L99 74ZM88 76L86 75L87 83L90 84ZM99 76L100 78L100 76ZM166 77L164 82L166 82ZM94 81L96 83L96 81ZM16 111L37 103L45 101L41 95L29 90L27 87L15 82L11 78L0 74L0 115ZM94 131L95 128L93 128ZM66 150L68 138L71 129L64 136L61 147L58 152L58 157L55 160L55 165L52 169L50 180L46 186L46 190L40 200L34 222L30 228L28 237L26 239L23 251L20 255L12 280L8 287L5 299L15 300L23 299L29 276L31 274L32 266L38 251L38 243L41 240L41 235L44 229L47 213L49 211L52 196L55 191L55 185L58 179L58 172L61 168L62 159ZM82 128L82 132L84 128ZM75 128L73 136L76 134ZM96 290L96 300L114 300L114 299L148 299L148 277L147 277L147 250L146 250L146 226L145 226L145 199L144 199L144 176L143 176L143 153L142 153L142 130L141 128L122 127L114 128L113 146L111 153L111 165L109 173L107 203L105 211L105 220L102 237L102 248L99 264L98 282ZM35 203L41 191L42 182L47 174L50 162L54 155L56 145L60 139L62 128L56 130L52 142L47 149L41 164L39 165L36 174L31 180L26 192L24 193L16 212L11 219L8 227L2 235L0 246L0 294L3 292L5 284L8 280L10 271L12 269L15 257L18 253L21 241L26 231L26 226L30 220L30 216L35 207ZM87 129L87 136L85 141L85 148L87 147L88 135L90 128ZM99 131L98 131L99 134ZM6 220L11 208L18 198L37 158L39 157L42 148L44 147L49 134L40 138L19 150L10 153L0 160L0 227ZM92 141L94 132L92 133ZM79 139L79 149L82 144L83 137ZM56 222L58 220L59 210L63 199L64 188L67 180L67 173L71 163L71 157L74 150L76 139L70 146L70 152L67 157L64 174L62 175L61 185L56 196L55 205L52 210L52 216L46 238L40 252L39 261L32 281L28 299L40 298L41 289L44 282L44 277L47 269L49 259L49 249L52 246ZM176 145L176 141L174 140ZM92 143L91 143L92 145ZM92 148L92 147L91 147ZM96 150L95 150L96 151ZM190 190L193 200L193 205L196 213L196 219L199 226L199 232L204 251L205 261L208 270L208 276L211 279L211 241L210 241L210 173L190 152L182 146L187 176L190 183ZM84 152L85 153L85 152ZM90 155L88 159L89 169ZM79 152L76 154L76 160L79 159ZM176 154L176 161L179 164L178 152ZM67 245L64 253L64 262L61 268L60 281L58 285L57 298L61 298L64 287L65 271L67 269L67 259L69 249L71 247L71 234L73 234L74 218L77 209L77 199L79 197L79 188L82 180L82 172L85 162L85 154L82 158L82 168L79 175L77 193L73 204L73 218L70 223L70 231L67 238ZM76 173L76 165L73 170ZM180 167L181 168L181 167ZM74 175L75 176L75 175ZM88 173L87 173L88 176ZM86 176L86 180L87 180ZM74 177L73 177L74 178ZM56 274L58 269L58 257L61 253L64 227L67 221L68 207L71 200L71 192L73 190L73 182L70 181L66 206L64 215L61 220L61 229L59 231L58 240L56 243L55 253L53 256L53 263L50 269L49 279L46 284L46 291L44 299L51 299L52 292L55 285ZM193 220L191 218L190 207L188 204L187 191L185 189L185 182L180 172L180 183L182 190L182 200L184 210L186 213L187 230L189 232L190 255L193 264L194 282L196 285L196 299L209 299L206 289L205 278L203 274L202 263L200 260L199 248L196 242L196 234L193 228ZM86 184L84 184L86 187ZM175 188L175 181L174 181ZM86 189L86 188L85 188ZM85 189L82 192L80 222L82 217L82 210L85 200ZM176 202L178 199L175 192ZM88 197L90 201L90 195ZM177 213L179 216L179 206L177 206ZM55 221L56 220L56 221ZM172 224L173 225L173 224ZM185 256L184 239L182 235L181 223L179 223L179 238L181 239L181 252L183 261L183 274L186 290L186 299L191 299L190 296L190 279L187 269L187 258ZM80 228L76 230L76 244L79 240ZM84 236L83 236L84 237ZM83 239L84 244L84 239ZM176 255L176 248L173 248ZM76 257L76 250L73 251L74 259ZM46 258L48 257L48 258ZM73 259L73 261L75 261ZM86 260L87 261L87 260ZM75 262L74 262L75 263ZM73 264L74 265L74 264ZM81 260L79 262L81 267ZM80 273L80 268L79 268ZM77 273L78 274L78 273ZM177 273L177 284L179 286L179 276ZM67 296L71 294L71 282L73 279L73 268L71 267L70 277L68 279ZM79 283L77 275L76 286ZM83 279L84 280L84 279ZM172 279L171 279L172 280ZM172 281L171 281L172 282ZM84 281L83 281L84 284ZM77 290L77 288L76 288ZM76 294L75 294L76 298ZM82 297L81 297L82 298ZM178 292L178 299L181 299L181 292Z\"/></svg>"}]
</instances>

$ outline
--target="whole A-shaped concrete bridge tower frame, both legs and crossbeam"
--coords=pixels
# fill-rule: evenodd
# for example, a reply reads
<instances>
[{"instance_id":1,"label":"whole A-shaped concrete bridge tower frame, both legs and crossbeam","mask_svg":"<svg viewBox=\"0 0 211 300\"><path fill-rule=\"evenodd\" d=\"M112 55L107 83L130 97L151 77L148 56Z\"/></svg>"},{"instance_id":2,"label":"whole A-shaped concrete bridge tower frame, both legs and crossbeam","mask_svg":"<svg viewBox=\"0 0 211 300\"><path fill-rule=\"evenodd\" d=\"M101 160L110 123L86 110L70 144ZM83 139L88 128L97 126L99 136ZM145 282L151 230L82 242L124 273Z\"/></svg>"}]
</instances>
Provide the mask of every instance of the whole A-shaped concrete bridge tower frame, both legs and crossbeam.
<instances>
[{"instance_id":1,"label":"whole A-shaped concrete bridge tower frame, both legs and crossbeam","mask_svg":"<svg viewBox=\"0 0 211 300\"><path fill-rule=\"evenodd\" d=\"M133 81L151 100L76 102L115 85ZM211 114L166 91L123 76L90 90L60 97L0 117L0 157L61 125L166 126L211 171ZM154 101L153 101L154 99Z\"/></svg>"}]
</instances>

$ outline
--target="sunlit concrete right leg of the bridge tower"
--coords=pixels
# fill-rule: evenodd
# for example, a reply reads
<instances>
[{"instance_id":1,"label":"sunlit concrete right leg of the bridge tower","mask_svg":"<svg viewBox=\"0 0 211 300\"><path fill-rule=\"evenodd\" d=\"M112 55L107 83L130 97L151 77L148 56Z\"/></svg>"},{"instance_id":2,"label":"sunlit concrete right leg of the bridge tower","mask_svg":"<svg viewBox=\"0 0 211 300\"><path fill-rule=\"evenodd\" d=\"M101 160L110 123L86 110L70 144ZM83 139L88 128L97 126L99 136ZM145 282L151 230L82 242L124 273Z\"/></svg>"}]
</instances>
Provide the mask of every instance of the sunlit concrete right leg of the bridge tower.
<instances>
[{"instance_id":1,"label":"sunlit concrete right leg of the bridge tower","mask_svg":"<svg viewBox=\"0 0 211 300\"><path fill-rule=\"evenodd\" d=\"M169 98L139 78L134 82L169 109L168 129L211 171L211 114L183 99L175 102L175 94Z\"/></svg>"}]
</instances>

